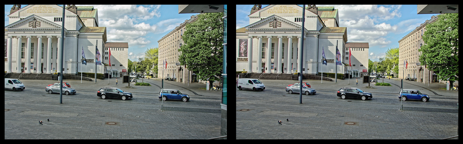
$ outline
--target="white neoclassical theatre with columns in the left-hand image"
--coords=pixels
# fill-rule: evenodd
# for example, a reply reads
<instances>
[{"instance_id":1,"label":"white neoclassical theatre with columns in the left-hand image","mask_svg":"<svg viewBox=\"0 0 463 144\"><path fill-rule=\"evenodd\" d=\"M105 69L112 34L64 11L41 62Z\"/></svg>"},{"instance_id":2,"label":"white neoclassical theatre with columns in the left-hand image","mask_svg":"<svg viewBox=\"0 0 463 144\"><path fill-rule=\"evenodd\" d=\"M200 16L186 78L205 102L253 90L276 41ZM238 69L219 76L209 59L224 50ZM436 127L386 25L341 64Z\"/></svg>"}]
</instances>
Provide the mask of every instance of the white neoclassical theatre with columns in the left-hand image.
<instances>
[{"instance_id":1,"label":"white neoclassical theatre with columns in the left-hand image","mask_svg":"<svg viewBox=\"0 0 463 144\"><path fill-rule=\"evenodd\" d=\"M95 72L95 49L100 53L101 65L97 73L106 73L109 58L106 54L106 27L98 26L97 9L93 6L67 5L65 7L64 37L61 36L63 7L58 5L14 5L5 26L5 71L12 73ZM64 38L63 57L61 40ZM98 42L97 42L98 41ZM128 46L127 46L128 47ZM109 48L106 46L106 48ZM82 51L87 65L82 65ZM121 50L122 51L122 50ZM112 53L117 53L116 50ZM124 69L122 57L111 56L112 67ZM119 55L114 55L119 56ZM62 64L61 61L64 60ZM122 59L122 60L121 60ZM121 60L119 62L118 60ZM122 72L122 69L119 69Z\"/></svg>"}]
</instances>

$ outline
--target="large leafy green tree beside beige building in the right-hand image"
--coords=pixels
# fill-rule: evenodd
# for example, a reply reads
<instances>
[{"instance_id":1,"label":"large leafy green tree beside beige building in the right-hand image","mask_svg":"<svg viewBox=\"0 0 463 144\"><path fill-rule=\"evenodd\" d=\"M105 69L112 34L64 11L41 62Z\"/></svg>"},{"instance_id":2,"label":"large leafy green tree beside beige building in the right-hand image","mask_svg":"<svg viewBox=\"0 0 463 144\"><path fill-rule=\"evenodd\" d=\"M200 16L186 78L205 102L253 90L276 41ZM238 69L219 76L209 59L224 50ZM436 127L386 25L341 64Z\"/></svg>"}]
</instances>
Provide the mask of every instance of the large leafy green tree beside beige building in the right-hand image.
<instances>
[{"instance_id":1,"label":"large leafy green tree beside beige building in the right-hand image","mask_svg":"<svg viewBox=\"0 0 463 144\"><path fill-rule=\"evenodd\" d=\"M453 85L458 81L458 13L439 14L425 29L419 61L436 71L438 79L449 79Z\"/></svg>"}]
</instances>

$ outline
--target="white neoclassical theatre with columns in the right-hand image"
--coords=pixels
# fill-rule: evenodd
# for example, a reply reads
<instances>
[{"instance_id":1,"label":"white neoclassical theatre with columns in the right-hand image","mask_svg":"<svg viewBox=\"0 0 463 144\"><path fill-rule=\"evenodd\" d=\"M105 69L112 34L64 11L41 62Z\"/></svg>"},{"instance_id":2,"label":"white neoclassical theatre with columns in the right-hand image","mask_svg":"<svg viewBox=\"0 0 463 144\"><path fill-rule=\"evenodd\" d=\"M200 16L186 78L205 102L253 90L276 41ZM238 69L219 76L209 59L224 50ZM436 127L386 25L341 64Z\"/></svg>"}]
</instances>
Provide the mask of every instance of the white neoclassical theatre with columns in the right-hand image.
<instances>
[{"instance_id":1,"label":"white neoclassical theatre with columns in the right-hand image","mask_svg":"<svg viewBox=\"0 0 463 144\"><path fill-rule=\"evenodd\" d=\"M303 37L302 19L305 19ZM255 5L251 9L249 23L250 25L236 30L237 71L244 69L252 73L316 74L322 72L324 51L327 65L323 65L323 72L335 73L338 47L338 57L343 64L336 65L337 73L348 72L347 28L339 27L338 9L333 6L306 5L306 8L302 8L298 5L269 5L261 8L260 5ZM304 43L303 50L300 49L301 43ZM356 72L353 75L358 77L360 72L368 69L368 48L362 50L367 50L366 55L356 56L367 58L366 63L363 60L357 61L357 66L362 67L353 69ZM302 57L298 56L301 52ZM303 63L300 63L301 58ZM303 69L299 69L299 65ZM353 70L349 68L349 71Z\"/></svg>"}]
</instances>

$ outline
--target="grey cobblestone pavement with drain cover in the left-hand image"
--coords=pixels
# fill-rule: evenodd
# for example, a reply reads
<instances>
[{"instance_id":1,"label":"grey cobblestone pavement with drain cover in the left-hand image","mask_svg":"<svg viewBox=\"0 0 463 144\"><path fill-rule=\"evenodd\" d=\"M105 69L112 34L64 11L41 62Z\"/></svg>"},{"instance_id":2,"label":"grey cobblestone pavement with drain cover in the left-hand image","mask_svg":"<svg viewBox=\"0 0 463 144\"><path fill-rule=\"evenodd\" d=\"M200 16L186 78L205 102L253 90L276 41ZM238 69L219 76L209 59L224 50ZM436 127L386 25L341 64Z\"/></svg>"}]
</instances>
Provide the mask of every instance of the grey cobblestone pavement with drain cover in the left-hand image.
<instances>
[{"instance_id":1,"label":"grey cobblestone pavement with drain cover in the left-hand image","mask_svg":"<svg viewBox=\"0 0 463 144\"><path fill-rule=\"evenodd\" d=\"M65 80L78 94L63 95L63 104L59 104L59 94L48 94L42 88L35 90L37 94L25 94L38 87L44 89L56 81L21 81L26 86L25 91L5 91L5 139L206 139L220 136L220 113L217 111L220 110L221 92L199 89L205 87L202 83L190 83L188 87L187 84L165 81L165 88L185 88L188 90L184 93L195 96L188 102L165 101L176 104L160 111L157 102L161 100L149 94L159 92L156 86L131 84L134 88L122 88L121 83L116 86L115 79L111 79L109 85L107 79L97 80L97 84L94 81L81 84L80 80ZM158 85L160 80L144 81ZM96 97L96 90L102 87L144 91L147 96L134 96L134 100L102 100ZM95 93L86 94L85 91ZM205 96L202 99L211 100L194 100L200 95ZM155 104L144 101L154 101ZM191 105L195 101L218 104ZM187 109L194 110L183 111ZM38 123L39 120L43 125Z\"/></svg>"}]
</instances>

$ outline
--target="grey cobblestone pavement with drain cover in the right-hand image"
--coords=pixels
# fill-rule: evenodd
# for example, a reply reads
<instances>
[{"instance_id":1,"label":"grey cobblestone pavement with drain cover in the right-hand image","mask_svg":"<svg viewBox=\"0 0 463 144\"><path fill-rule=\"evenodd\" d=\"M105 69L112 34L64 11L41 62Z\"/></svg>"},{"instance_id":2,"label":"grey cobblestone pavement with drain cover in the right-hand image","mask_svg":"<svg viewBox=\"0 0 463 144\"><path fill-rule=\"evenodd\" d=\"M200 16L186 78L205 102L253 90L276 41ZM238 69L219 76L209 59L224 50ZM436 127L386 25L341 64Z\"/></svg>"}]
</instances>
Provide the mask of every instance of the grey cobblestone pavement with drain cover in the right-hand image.
<instances>
[{"instance_id":1,"label":"grey cobblestone pavement with drain cover in the right-hand image","mask_svg":"<svg viewBox=\"0 0 463 144\"><path fill-rule=\"evenodd\" d=\"M430 94L431 100L404 101L404 109L409 109L400 111L400 88L395 85L365 88L368 83L355 85L353 80L350 84L347 80L338 80L336 84L304 80L317 94L303 95L300 104L299 94L284 91L288 84L298 81L261 81L266 86L264 91L237 89L237 139L441 139L458 135L458 93L441 91L439 87L444 88L444 84L431 83L428 87L404 81L404 88L420 89ZM400 80L384 81L400 86ZM342 100L336 91L343 87L372 92L373 99Z\"/></svg>"}]
</instances>

